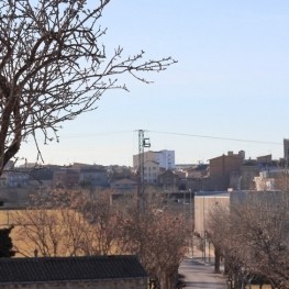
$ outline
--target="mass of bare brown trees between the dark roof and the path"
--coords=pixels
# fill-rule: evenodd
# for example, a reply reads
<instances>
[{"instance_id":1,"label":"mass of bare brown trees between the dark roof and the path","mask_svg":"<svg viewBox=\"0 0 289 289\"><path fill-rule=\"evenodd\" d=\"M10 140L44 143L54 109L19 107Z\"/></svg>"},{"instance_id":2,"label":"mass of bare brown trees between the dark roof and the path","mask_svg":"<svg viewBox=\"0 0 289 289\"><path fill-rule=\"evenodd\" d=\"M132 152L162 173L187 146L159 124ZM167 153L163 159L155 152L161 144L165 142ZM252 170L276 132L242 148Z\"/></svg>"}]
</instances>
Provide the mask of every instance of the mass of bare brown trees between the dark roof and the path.
<instances>
[{"instance_id":1,"label":"mass of bare brown trees between the dark roof and the path","mask_svg":"<svg viewBox=\"0 0 289 289\"><path fill-rule=\"evenodd\" d=\"M18 253L32 256L135 254L160 288L175 288L189 232L184 219L147 193L140 214L133 197L112 203L111 191L58 189L34 196L32 207L10 214L18 230ZM53 209L52 209L53 208Z\"/></svg>"}]
</instances>

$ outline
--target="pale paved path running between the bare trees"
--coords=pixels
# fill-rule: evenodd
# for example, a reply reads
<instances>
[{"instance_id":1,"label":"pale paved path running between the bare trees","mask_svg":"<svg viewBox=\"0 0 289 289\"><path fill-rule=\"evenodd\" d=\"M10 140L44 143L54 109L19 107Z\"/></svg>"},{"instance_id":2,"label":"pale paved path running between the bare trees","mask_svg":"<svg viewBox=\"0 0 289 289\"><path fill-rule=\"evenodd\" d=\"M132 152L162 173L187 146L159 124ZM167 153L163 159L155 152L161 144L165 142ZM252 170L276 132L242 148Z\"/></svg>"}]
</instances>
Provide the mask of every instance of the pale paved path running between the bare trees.
<instances>
[{"instance_id":1,"label":"pale paved path running between the bare trees","mask_svg":"<svg viewBox=\"0 0 289 289\"><path fill-rule=\"evenodd\" d=\"M215 274L212 264L204 264L200 252L184 259L179 274L185 276L186 289L227 289L224 276Z\"/></svg>"}]
</instances>

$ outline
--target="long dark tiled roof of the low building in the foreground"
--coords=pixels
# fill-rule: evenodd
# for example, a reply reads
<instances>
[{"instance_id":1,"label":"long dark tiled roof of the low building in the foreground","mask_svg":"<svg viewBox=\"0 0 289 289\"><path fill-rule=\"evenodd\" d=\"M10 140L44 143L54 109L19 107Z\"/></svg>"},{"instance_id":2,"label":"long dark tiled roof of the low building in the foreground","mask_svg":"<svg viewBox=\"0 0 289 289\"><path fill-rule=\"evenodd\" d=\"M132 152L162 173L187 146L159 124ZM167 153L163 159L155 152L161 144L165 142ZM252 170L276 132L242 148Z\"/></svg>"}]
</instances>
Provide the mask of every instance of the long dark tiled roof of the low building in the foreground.
<instances>
[{"instance_id":1,"label":"long dark tiled roof of the low building in the foreground","mask_svg":"<svg viewBox=\"0 0 289 289\"><path fill-rule=\"evenodd\" d=\"M1 258L0 284L146 277L135 256Z\"/></svg>"}]
</instances>

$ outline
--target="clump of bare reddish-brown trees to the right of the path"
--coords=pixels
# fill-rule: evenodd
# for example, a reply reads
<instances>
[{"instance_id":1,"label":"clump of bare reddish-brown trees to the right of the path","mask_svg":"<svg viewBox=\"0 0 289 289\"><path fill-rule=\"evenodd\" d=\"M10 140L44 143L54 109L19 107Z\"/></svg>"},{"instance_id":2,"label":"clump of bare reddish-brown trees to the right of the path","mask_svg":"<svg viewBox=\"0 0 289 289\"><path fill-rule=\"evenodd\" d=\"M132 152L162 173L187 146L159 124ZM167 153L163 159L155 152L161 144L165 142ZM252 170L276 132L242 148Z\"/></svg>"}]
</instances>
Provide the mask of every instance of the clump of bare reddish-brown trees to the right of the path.
<instances>
[{"instance_id":1,"label":"clump of bare reddish-brown trees to the right of the path","mask_svg":"<svg viewBox=\"0 0 289 289\"><path fill-rule=\"evenodd\" d=\"M273 288L289 288L288 209L286 192L254 192L230 210L213 210L210 234L235 286L258 279Z\"/></svg>"}]
</instances>

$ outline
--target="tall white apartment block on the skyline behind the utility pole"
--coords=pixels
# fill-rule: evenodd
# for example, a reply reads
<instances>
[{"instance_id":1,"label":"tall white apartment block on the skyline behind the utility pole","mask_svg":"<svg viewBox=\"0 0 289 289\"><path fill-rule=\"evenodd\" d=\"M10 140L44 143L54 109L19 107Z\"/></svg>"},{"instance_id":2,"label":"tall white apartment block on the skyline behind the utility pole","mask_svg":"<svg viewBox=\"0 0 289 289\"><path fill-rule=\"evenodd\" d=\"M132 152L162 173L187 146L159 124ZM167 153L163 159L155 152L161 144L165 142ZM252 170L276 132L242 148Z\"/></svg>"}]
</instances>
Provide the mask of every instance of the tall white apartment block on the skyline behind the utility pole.
<instances>
[{"instance_id":1,"label":"tall white apartment block on the skyline behind the utility pole","mask_svg":"<svg viewBox=\"0 0 289 289\"><path fill-rule=\"evenodd\" d=\"M175 151L163 149L158 152L148 151L144 153L144 163L155 162L159 168L175 169ZM133 167L138 167L138 154L133 156Z\"/></svg>"}]
</instances>

